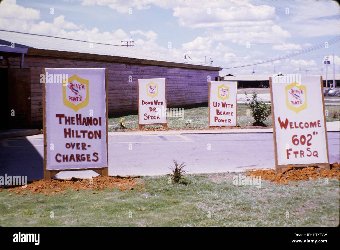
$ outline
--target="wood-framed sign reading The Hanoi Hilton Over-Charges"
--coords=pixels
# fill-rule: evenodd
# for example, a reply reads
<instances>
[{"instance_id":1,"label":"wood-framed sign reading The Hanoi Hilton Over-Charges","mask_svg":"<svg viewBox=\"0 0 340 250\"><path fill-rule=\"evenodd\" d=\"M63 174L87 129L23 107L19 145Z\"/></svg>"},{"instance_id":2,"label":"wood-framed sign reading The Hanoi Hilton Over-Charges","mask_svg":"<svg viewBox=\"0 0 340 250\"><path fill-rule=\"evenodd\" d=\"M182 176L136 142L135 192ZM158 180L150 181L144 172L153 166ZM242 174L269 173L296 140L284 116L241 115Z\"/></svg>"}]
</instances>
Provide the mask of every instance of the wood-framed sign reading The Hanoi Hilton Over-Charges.
<instances>
[{"instance_id":1,"label":"wood-framed sign reading The Hanoi Hilton Over-Charges","mask_svg":"<svg viewBox=\"0 0 340 250\"><path fill-rule=\"evenodd\" d=\"M44 69L44 179L62 171L108 175L107 69Z\"/></svg>"}]
</instances>

